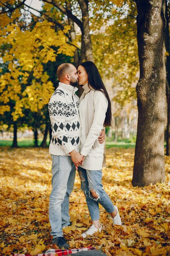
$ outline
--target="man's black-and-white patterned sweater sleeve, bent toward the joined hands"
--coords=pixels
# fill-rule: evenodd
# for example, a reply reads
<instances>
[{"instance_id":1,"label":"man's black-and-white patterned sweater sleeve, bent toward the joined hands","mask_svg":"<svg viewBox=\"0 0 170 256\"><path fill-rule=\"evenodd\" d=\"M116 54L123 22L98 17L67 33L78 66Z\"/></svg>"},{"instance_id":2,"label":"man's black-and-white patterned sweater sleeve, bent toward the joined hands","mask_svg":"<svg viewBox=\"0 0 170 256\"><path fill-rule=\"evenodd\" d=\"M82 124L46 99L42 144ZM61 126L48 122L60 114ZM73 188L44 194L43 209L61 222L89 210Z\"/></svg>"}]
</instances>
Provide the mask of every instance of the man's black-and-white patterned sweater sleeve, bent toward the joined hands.
<instances>
[{"instance_id":1,"label":"man's black-and-white patterned sweater sleeve, bent toward the joined hands","mask_svg":"<svg viewBox=\"0 0 170 256\"><path fill-rule=\"evenodd\" d=\"M74 150L71 141L68 138L66 128L65 128L65 119L66 119L66 108L67 103L64 102L64 98L56 100L55 97L49 102L49 115L52 128L52 136L56 139L58 144L64 149L67 153L70 153Z\"/></svg>"}]
</instances>

